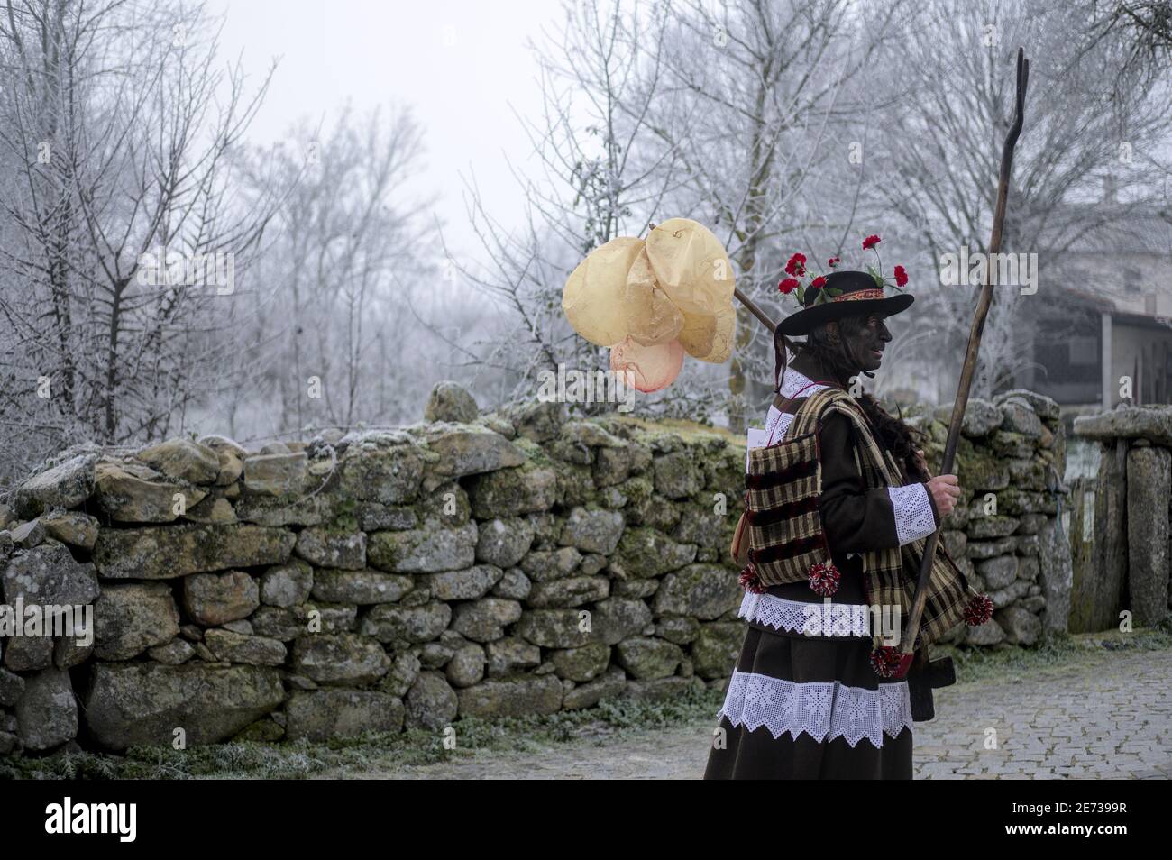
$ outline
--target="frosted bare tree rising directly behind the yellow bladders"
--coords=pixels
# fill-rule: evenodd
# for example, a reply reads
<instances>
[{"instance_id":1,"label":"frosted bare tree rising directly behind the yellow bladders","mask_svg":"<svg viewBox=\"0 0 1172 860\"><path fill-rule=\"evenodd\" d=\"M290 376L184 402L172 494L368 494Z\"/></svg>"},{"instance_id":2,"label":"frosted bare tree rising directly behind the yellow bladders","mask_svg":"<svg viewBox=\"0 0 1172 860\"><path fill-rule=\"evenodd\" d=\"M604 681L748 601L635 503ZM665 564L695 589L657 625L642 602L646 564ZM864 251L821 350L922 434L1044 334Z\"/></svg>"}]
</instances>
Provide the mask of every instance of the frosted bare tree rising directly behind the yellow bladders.
<instances>
[{"instance_id":1,"label":"frosted bare tree rising directly behind the yellow bladders","mask_svg":"<svg viewBox=\"0 0 1172 860\"><path fill-rule=\"evenodd\" d=\"M469 218L490 262L473 267L449 253L498 314L488 337L463 348L464 361L506 380L510 397L531 395L543 368L607 367L606 350L566 325L563 285L594 247L642 234L680 182L673 151L639 156L652 135L663 21L613 0L566 1L563 9L560 26L532 46L541 114L518 116L538 159L536 170L513 169L527 199L523 224L506 227L469 177Z\"/></svg>"}]
</instances>

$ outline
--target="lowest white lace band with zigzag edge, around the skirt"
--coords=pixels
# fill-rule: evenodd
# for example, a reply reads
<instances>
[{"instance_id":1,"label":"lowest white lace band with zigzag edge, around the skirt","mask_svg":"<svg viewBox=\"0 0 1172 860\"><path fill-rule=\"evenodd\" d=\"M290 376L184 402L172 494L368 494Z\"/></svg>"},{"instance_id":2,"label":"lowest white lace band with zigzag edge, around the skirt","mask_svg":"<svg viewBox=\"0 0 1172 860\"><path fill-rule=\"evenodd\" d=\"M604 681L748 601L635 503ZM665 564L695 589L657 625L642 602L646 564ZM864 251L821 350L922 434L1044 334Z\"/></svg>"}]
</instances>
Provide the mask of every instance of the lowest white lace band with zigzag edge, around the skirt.
<instances>
[{"instance_id":1,"label":"lowest white lace band with zigzag edge, around the skirt","mask_svg":"<svg viewBox=\"0 0 1172 860\"><path fill-rule=\"evenodd\" d=\"M734 669L729 691L716 718L749 731L765 726L774 738L789 732L797 740L805 732L818 743L837 737L854 746L866 738L883 748L883 736L898 737L912 724L907 681L878 689L846 687L837 681L797 683Z\"/></svg>"}]
</instances>

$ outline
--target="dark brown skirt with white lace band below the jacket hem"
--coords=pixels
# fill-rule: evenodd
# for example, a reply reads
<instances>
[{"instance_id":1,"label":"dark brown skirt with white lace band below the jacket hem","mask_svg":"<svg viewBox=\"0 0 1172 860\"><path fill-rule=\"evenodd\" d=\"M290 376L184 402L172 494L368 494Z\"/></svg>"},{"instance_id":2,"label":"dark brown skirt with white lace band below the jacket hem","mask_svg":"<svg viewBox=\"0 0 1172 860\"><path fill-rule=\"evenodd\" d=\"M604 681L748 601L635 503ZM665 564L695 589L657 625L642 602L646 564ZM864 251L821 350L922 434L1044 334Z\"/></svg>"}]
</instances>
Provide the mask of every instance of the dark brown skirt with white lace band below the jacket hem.
<instances>
[{"instance_id":1,"label":"dark brown skirt with white lace band below the jacket hem","mask_svg":"<svg viewBox=\"0 0 1172 860\"><path fill-rule=\"evenodd\" d=\"M868 637L750 624L704 779L911 779L907 682L870 658Z\"/></svg>"}]
</instances>

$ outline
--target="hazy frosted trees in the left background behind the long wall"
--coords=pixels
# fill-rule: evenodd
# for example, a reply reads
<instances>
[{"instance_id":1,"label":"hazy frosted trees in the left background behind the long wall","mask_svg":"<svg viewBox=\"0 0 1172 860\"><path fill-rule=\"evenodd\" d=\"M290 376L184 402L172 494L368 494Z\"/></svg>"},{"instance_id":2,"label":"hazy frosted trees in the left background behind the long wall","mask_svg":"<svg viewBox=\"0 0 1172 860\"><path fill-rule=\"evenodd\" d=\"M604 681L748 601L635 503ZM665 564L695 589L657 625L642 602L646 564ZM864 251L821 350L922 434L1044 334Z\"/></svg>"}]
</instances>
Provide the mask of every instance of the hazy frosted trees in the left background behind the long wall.
<instances>
[{"instance_id":1,"label":"hazy frosted trees in the left background behind the long wall","mask_svg":"<svg viewBox=\"0 0 1172 860\"><path fill-rule=\"evenodd\" d=\"M252 193L282 204L247 291L264 381L233 393L234 432L397 422L422 400L409 305L435 279L435 230L406 187L422 155L410 110L347 109L327 134L301 122L247 159Z\"/></svg>"}]
</instances>

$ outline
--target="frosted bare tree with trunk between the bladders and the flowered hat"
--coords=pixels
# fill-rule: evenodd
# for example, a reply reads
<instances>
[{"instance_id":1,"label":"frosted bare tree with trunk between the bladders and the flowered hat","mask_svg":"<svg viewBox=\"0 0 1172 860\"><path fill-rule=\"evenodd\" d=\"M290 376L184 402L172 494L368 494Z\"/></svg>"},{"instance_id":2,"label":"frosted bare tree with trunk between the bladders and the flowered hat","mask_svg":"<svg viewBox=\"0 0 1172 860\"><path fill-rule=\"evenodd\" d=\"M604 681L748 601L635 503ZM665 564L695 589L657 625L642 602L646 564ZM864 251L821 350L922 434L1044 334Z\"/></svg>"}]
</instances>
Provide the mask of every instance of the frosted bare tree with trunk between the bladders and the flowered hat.
<instances>
[{"instance_id":1,"label":"frosted bare tree with trunk between the bladders and the flowered hat","mask_svg":"<svg viewBox=\"0 0 1172 860\"><path fill-rule=\"evenodd\" d=\"M669 49L652 123L687 176L672 205L714 226L749 295L775 299L786 245L850 219L850 200L820 196L818 183L847 163L841 132L864 103L860 77L901 7L885 4L867 29L845 0L662 7ZM748 381L772 384L768 332L745 308L725 378L729 426L740 432Z\"/></svg>"}]
</instances>

